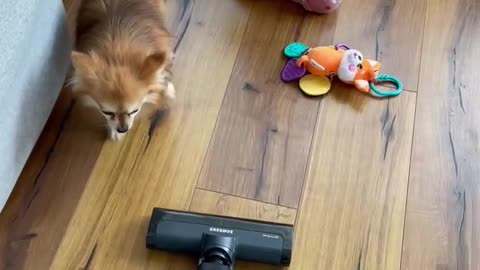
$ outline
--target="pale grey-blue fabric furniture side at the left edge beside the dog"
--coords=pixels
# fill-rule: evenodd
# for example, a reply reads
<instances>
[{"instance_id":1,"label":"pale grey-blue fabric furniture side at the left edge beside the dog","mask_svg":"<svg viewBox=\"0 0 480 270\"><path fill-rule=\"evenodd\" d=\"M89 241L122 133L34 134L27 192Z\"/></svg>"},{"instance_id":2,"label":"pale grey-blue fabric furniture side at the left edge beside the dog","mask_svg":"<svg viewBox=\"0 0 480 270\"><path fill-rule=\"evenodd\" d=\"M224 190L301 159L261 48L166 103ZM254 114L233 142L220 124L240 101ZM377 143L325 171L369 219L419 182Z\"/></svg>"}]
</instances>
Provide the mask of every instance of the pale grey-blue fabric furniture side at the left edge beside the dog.
<instances>
[{"instance_id":1,"label":"pale grey-blue fabric furniture side at the left edge beside the dog","mask_svg":"<svg viewBox=\"0 0 480 270\"><path fill-rule=\"evenodd\" d=\"M70 45L60 0L0 5L0 211L58 97Z\"/></svg>"}]
</instances>

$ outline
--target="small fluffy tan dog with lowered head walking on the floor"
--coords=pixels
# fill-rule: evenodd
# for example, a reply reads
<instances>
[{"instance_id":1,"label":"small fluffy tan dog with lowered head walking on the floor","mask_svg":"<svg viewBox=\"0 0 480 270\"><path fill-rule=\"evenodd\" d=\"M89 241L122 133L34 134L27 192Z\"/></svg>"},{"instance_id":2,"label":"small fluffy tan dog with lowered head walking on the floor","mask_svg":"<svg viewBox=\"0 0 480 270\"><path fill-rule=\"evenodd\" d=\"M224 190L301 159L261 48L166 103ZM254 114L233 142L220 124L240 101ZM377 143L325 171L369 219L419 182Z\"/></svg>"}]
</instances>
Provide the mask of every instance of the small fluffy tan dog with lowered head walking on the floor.
<instances>
[{"instance_id":1,"label":"small fluffy tan dog with lowered head walking on the floor","mask_svg":"<svg viewBox=\"0 0 480 270\"><path fill-rule=\"evenodd\" d=\"M113 140L130 129L145 103L160 106L175 96L162 3L83 0L79 4L71 83L78 96L105 115Z\"/></svg>"}]
</instances>

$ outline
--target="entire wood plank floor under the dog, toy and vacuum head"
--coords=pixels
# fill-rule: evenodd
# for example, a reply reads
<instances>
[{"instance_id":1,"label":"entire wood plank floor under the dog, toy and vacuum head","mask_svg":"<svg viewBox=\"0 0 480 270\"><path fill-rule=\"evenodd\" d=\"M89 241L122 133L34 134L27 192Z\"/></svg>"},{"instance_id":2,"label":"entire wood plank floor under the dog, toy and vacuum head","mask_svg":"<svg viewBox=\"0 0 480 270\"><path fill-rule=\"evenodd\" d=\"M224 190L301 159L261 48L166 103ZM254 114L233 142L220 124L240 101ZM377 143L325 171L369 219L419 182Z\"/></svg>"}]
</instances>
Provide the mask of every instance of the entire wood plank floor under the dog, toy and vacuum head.
<instances>
[{"instance_id":1,"label":"entire wood plank floor under the dog, toy and vacuum head","mask_svg":"<svg viewBox=\"0 0 480 270\"><path fill-rule=\"evenodd\" d=\"M0 216L1 269L194 269L145 249L155 206L295 224L295 270L480 269L479 1L167 5L176 104L114 144L62 96ZM349 44L407 91L307 98L279 80L293 41Z\"/></svg>"}]
</instances>

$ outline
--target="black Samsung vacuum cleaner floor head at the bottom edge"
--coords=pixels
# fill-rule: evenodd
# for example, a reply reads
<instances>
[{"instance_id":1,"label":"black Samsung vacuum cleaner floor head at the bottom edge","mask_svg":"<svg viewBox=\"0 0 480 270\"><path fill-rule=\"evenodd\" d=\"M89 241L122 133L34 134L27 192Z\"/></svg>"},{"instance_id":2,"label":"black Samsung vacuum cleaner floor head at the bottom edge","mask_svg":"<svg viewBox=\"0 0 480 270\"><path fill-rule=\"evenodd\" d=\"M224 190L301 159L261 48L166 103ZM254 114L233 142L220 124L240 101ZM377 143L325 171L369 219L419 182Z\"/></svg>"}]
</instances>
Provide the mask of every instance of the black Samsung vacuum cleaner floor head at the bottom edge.
<instances>
[{"instance_id":1,"label":"black Samsung vacuum cleaner floor head at the bottom edge","mask_svg":"<svg viewBox=\"0 0 480 270\"><path fill-rule=\"evenodd\" d=\"M197 254L199 270L230 270L235 260L290 265L293 226L153 209L147 248Z\"/></svg>"}]
</instances>

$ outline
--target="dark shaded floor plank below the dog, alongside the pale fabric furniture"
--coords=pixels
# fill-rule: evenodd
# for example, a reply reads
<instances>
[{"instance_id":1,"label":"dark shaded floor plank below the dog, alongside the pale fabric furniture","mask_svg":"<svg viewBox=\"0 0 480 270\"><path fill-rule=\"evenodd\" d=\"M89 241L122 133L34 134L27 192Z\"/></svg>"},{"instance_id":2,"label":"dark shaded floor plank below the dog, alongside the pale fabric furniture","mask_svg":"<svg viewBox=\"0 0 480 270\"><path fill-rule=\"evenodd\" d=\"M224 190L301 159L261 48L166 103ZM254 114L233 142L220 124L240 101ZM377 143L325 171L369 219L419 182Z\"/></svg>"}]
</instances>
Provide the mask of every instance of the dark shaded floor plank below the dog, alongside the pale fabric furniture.
<instances>
[{"instance_id":1,"label":"dark shaded floor plank below the dog, alongside the pale fabric furniture","mask_svg":"<svg viewBox=\"0 0 480 270\"><path fill-rule=\"evenodd\" d=\"M12 196L21 197L9 203L19 200L20 206L2 239L7 241L1 260L6 269L46 269L51 263L104 140L100 126L87 123L85 113L74 106L46 160L31 159L19 179ZM30 174L37 162L42 167ZM14 206L7 205L7 212L9 207Z\"/></svg>"}]
</instances>

